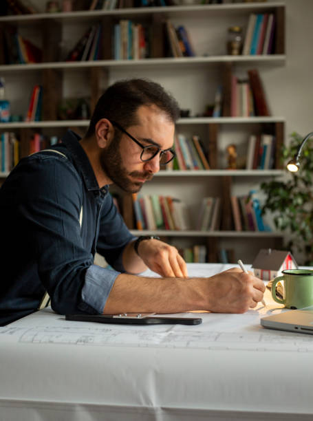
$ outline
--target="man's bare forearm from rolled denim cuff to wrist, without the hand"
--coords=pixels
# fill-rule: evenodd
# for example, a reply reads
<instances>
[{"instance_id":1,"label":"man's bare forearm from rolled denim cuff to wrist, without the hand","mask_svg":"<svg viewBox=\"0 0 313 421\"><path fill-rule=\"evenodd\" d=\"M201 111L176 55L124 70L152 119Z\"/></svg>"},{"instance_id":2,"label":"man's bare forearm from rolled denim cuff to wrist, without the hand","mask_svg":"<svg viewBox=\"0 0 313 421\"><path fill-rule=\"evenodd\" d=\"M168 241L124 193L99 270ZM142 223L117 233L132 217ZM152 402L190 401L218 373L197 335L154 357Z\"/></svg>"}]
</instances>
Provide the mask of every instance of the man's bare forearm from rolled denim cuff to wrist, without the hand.
<instances>
[{"instance_id":1,"label":"man's bare forearm from rolled denim cuff to wrist, without the hand","mask_svg":"<svg viewBox=\"0 0 313 421\"><path fill-rule=\"evenodd\" d=\"M120 274L111 289L104 314L179 313L205 310L205 278L149 278Z\"/></svg>"}]
</instances>

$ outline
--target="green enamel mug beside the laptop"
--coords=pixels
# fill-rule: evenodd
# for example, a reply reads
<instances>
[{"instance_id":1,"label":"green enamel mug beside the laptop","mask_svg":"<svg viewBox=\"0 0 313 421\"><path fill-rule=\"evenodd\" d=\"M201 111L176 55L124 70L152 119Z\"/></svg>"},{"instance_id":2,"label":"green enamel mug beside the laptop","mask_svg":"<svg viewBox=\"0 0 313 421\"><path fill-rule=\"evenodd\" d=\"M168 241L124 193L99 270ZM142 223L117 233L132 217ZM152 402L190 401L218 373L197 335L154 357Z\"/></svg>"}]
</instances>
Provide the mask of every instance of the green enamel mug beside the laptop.
<instances>
[{"instance_id":1,"label":"green enamel mug beside the laptop","mask_svg":"<svg viewBox=\"0 0 313 421\"><path fill-rule=\"evenodd\" d=\"M272 297L287 308L303 308L313 305L313 269L286 269L281 277L272 282ZM277 282L283 281L283 299L276 295Z\"/></svg>"}]
</instances>

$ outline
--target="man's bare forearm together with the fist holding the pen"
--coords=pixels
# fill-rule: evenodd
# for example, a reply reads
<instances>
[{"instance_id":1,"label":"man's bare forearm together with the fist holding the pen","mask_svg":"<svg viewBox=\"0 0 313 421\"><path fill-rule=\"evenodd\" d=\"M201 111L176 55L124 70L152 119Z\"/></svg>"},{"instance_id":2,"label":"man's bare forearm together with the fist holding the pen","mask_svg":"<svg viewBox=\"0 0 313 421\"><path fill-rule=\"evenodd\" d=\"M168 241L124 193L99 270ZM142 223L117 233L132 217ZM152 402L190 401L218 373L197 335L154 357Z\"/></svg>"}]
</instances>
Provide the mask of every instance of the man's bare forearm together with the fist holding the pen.
<instances>
[{"instance_id":1,"label":"man's bare forearm together with the fist holding the pen","mask_svg":"<svg viewBox=\"0 0 313 421\"><path fill-rule=\"evenodd\" d=\"M149 278L120 274L105 303L104 314L179 313L208 310L244 313L263 298L265 286L238 268L210 278Z\"/></svg>"}]
</instances>

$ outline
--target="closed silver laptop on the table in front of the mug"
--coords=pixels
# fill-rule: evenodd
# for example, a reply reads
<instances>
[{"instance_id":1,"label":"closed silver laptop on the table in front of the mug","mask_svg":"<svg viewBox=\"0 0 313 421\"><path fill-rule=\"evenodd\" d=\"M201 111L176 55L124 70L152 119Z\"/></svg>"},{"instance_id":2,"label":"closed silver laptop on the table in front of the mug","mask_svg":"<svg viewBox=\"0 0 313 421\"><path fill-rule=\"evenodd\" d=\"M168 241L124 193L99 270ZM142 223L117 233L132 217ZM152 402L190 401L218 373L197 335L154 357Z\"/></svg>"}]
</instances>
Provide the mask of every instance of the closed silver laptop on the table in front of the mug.
<instances>
[{"instance_id":1,"label":"closed silver laptop on the table in front of the mug","mask_svg":"<svg viewBox=\"0 0 313 421\"><path fill-rule=\"evenodd\" d=\"M272 314L272 316L263 317L261 325L269 329L313 335L313 309L310 307L310 310L289 310Z\"/></svg>"}]
</instances>

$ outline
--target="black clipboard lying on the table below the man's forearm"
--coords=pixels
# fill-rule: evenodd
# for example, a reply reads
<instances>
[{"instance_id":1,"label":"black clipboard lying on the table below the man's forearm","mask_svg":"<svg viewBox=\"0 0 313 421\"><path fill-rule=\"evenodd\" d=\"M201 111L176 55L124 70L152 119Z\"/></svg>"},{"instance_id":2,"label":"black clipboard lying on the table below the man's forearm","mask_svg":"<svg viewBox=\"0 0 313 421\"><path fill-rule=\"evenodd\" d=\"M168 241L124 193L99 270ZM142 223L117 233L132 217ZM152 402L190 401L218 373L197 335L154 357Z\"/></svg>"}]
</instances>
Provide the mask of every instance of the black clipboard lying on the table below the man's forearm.
<instances>
[{"instance_id":1,"label":"black clipboard lying on the table below the man's forearm","mask_svg":"<svg viewBox=\"0 0 313 421\"><path fill-rule=\"evenodd\" d=\"M142 314L65 314L65 320L125 325L199 325L202 323L202 319L195 317L162 317Z\"/></svg>"}]
</instances>

